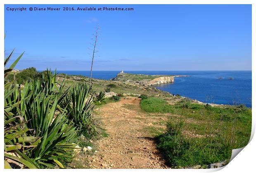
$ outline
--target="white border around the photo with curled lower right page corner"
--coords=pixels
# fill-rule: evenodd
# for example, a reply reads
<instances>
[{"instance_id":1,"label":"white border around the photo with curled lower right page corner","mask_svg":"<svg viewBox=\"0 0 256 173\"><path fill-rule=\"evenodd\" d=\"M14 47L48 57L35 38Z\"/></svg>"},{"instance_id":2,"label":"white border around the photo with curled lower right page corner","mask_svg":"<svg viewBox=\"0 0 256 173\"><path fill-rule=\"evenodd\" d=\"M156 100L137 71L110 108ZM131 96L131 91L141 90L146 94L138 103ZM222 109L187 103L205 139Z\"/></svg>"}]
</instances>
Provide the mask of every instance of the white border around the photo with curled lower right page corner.
<instances>
[{"instance_id":1,"label":"white border around the photo with curled lower right page corner","mask_svg":"<svg viewBox=\"0 0 256 173\"><path fill-rule=\"evenodd\" d=\"M4 4L252 4L252 47L255 47L255 16L256 16L256 2L255 0L1 0L0 1L0 33L1 33L1 41L0 41L0 52L1 54L1 61L0 63L2 64L3 67L3 52L4 52ZM18 29L18 27L17 27ZM200 170L192 170L192 169L172 169L172 170L152 170L152 169L122 169L122 170L99 170L99 169L83 169L83 170L72 170L75 172L78 171L86 171L86 172L93 172L93 173L98 173L98 172L119 172L122 171L123 173L126 172L213 172L213 171L218 171L220 172L252 172L254 170L254 165L255 165L255 154L256 154L256 141L255 138L252 138L254 131L255 131L255 113L254 113L254 108L255 108L255 71L254 71L254 66L256 65L256 60L255 60L255 49L252 49L252 134L251 134L251 142L239 153L237 157L235 157L225 168L217 168L217 169L200 169ZM3 72L2 72L3 74ZM3 75L0 75L0 81L4 81ZM0 86L1 88L1 93L2 96L4 95L4 88L3 88L3 83ZM0 100L0 105L1 105L1 112L3 112L3 100ZM3 129L3 120L0 119L1 121L1 129ZM1 136L3 136L3 130L1 131ZM0 143L0 148L2 148L2 142ZM1 154L1 168L4 169L3 165L3 152L0 152ZM35 170L3 170L5 172L33 172ZM64 172L69 172L71 170L36 170L36 171L64 171Z\"/></svg>"}]
</instances>

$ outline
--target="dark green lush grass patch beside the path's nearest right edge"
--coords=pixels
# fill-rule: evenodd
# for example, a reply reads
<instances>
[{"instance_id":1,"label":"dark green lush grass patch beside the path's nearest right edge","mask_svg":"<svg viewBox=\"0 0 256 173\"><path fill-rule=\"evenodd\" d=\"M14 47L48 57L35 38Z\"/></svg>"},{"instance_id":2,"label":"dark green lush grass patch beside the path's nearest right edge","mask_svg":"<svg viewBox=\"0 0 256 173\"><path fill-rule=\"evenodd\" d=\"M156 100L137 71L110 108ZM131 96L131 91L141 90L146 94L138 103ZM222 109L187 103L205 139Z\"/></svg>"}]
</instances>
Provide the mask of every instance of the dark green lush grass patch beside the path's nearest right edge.
<instances>
[{"instance_id":1,"label":"dark green lush grass patch beside the path's nearest right edge","mask_svg":"<svg viewBox=\"0 0 256 173\"><path fill-rule=\"evenodd\" d=\"M231 147L219 137L187 139L181 135L168 133L156 138L157 147L164 155L169 166L186 168L225 161L231 157Z\"/></svg>"}]
</instances>

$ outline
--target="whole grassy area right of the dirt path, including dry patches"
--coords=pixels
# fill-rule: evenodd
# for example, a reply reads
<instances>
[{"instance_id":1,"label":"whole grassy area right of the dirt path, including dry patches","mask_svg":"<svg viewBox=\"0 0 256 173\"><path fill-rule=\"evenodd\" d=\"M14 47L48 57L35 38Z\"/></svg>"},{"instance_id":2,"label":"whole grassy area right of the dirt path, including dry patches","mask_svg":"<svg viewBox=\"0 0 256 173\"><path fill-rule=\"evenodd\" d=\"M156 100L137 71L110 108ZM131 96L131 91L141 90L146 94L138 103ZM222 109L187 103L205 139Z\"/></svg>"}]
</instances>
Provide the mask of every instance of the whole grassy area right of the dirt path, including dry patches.
<instances>
[{"instance_id":1,"label":"whole grassy area right of the dirt path, including dry patches","mask_svg":"<svg viewBox=\"0 0 256 173\"><path fill-rule=\"evenodd\" d=\"M187 101L169 105L162 98L151 97L143 99L140 107L153 117L154 113L169 113L167 131L156 137L156 144L172 167L206 166L228 160L232 149L249 142L251 109L241 105L213 107Z\"/></svg>"}]
</instances>

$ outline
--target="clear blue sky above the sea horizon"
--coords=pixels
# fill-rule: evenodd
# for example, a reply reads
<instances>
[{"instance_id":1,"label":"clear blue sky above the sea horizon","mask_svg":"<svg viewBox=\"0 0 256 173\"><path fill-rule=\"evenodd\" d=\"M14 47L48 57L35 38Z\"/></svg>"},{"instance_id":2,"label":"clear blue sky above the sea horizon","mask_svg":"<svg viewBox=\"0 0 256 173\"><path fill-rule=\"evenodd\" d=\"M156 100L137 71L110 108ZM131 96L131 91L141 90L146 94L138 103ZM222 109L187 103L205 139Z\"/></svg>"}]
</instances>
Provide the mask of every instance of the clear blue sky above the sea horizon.
<instances>
[{"instance_id":1,"label":"clear blue sky above the sea horizon","mask_svg":"<svg viewBox=\"0 0 256 173\"><path fill-rule=\"evenodd\" d=\"M133 7L134 11L23 11L7 7ZM5 57L17 69L251 70L251 5L5 5Z\"/></svg>"}]
</instances>

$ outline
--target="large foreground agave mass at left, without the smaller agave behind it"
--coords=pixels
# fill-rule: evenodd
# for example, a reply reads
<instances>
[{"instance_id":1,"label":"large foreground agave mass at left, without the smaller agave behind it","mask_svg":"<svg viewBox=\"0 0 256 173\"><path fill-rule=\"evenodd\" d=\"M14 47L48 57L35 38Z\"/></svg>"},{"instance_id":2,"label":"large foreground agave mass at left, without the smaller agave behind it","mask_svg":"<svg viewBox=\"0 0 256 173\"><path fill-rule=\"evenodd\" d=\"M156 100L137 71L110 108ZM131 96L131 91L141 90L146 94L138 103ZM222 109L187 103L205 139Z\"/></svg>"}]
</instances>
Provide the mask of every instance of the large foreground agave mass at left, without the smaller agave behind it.
<instances>
[{"instance_id":1,"label":"large foreground agave mass at left, without the smaller agave behind it","mask_svg":"<svg viewBox=\"0 0 256 173\"><path fill-rule=\"evenodd\" d=\"M10 71L5 70L5 77ZM5 159L28 168L64 168L59 159L73 152L77 131L67 121L67 111L58 105L65 91L55 79L56 70L54 75L47 71L42 81L26 82L23 89L15 79L5 84ZM5 168L11 168L7 161Z\"/></svg>"}]
</instances>

